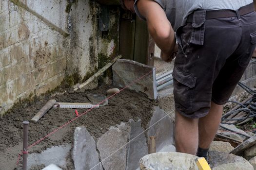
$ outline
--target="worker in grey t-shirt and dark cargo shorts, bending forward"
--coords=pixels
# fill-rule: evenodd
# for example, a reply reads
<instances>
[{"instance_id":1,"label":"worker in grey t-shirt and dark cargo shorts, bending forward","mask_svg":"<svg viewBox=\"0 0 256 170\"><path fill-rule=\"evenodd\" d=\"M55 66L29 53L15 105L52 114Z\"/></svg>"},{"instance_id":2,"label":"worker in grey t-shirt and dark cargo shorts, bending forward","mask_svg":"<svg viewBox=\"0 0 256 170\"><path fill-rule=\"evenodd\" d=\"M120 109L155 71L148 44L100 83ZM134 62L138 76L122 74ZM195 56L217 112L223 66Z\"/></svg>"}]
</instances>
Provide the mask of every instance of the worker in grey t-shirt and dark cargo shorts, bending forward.
<instances>
[{"instance_id":1,"label":"worker in grey t-shirt and dark cargo shorts, bending forward","mask_svg":"<svg viewBox=\"0 0 256 170\"><path fill-rule=\"evenodd\" d=\"M222 116L256 46L253 0L121 0L147 21L171 62L177 152L207 158ZM176 35L175 35L176 32Z\"/></svg>"}]
</instances>

